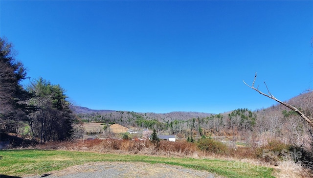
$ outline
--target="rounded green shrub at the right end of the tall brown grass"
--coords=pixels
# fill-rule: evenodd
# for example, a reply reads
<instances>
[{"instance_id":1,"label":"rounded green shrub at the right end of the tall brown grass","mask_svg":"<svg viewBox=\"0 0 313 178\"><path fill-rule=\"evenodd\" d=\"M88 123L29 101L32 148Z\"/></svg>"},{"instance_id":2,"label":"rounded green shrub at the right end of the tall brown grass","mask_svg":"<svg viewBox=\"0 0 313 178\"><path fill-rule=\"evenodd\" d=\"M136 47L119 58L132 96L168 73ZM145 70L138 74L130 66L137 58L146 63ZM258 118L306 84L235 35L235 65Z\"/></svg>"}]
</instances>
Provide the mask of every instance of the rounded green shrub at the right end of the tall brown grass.
<instances>
[{"instance_id":1,"label":"rounded green shrub at the right end of the tall brown grass","mask_svg":"<svg viewBox=\"0 0 313 178\"><path fill-rule=\"evenodd\" d=\"M201 138L197 146L200 150L208 153L226 154L228 153L228 147L219 141L215 141L211 138Z\"/></svg>"}]
</instances>

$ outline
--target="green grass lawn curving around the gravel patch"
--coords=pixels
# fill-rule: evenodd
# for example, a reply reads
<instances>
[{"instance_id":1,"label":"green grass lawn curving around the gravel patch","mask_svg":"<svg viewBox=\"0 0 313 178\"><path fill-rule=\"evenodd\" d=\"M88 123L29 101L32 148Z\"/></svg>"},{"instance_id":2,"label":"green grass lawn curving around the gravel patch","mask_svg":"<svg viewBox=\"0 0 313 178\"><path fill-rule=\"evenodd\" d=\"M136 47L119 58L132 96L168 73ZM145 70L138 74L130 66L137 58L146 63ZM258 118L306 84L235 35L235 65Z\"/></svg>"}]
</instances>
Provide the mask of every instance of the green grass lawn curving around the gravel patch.
<instances>
[{"instance_id":1,"label":"green grass lawn curving around the gravel patch","mask_svg":"<svg viewBox=\"0 0 313 178\"><path fill-rule=\"evenodd\" d=\"M194 159L141 155L112 155L77 151L3 150L0 151L0 174L42 175L53 170L97 161L164 163L216 173L228 178L274 178L273 169L249 163L219 159Z\"/></svg>"}]
</instances>

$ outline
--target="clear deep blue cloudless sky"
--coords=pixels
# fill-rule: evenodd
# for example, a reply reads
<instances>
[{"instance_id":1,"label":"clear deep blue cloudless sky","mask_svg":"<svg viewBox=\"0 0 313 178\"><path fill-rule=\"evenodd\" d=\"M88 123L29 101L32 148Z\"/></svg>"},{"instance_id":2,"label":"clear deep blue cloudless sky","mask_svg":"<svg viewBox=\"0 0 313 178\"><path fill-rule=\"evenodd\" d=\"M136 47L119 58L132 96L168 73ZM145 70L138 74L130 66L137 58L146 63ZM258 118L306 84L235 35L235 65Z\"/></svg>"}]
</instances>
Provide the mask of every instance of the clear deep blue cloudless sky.
<instances>
[{"instance_id":1,"label":"clear deep blue cloudless sky","mask_svg":"<svg viewBox=\"0 0 313 178\"><path fill-rule=\"evenodd\" d=\"M313 87L313 1L0 1L30 81L90 109L220 113Z\"/></svg>"}]
</instances>

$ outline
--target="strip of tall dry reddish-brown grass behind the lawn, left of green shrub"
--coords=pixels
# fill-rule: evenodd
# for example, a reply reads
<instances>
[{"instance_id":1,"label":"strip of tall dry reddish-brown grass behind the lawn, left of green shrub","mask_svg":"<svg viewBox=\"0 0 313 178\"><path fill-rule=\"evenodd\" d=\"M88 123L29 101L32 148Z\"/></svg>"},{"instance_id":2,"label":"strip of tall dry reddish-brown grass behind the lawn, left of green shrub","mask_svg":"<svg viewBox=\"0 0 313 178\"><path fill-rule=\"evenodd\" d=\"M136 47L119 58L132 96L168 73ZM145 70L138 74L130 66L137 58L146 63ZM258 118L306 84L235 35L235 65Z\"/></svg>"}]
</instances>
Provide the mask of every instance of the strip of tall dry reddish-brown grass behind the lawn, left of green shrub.
<instances>
[{"instance_id":1,"label":"strip of tall dry reddish-brown grass behind the lawn, left of green shrub","mask_svg":"<svg viewBox=\"0 0 313 178\"><path fill-rule=\"evenodd\" d=\"M162 156L199 155L196 145L186 141L169 142L161 140L158 149L149 140L90 139L67 142L47 142L35 149L78 150L100 153L147 154Z\"/></svg>"}]
</instances>

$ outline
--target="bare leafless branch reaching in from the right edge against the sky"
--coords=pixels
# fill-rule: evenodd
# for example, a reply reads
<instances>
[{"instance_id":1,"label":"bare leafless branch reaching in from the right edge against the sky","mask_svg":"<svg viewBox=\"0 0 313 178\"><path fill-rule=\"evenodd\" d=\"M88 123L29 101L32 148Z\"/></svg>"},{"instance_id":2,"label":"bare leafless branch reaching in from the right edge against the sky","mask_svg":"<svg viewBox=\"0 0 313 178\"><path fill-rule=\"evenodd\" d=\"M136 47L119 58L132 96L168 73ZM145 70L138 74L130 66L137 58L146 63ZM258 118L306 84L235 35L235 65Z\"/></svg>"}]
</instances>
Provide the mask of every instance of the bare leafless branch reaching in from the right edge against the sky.
<instances>
[{"instance_id":1,"label":"bare leafless branch reaching in from the right edge against the sky","mask_svg":"<svg viewBox=\"0 0 313 178\"><path fill-rule=\"evenodd\" d=\"M254 77L252 86L249 86L248 84L246 84L246 82L245 82L244 80L243 80L243 82L244 82L245 85L248 86L249 88L254 89L254 90L256 90L257 92L259 92L260 94L262 94L262 95L264 95L264 96L267 96L268 98L277 101L278 103L280 103L280 104L286 106L287 108L291 109L292 111L295 111L297 114L299 114L299 115L313 128L312 117L307 116L307 115L304 114L302 111L300 111L299 109L295 108L294 106L292 106L292 105L290 105L290 104L288 104L288 103L285 103L285 102L282 102L282 101L278 100L277 98L275 98L275 97L269 92L269 90L268 90L268 94L266 94L266 93L260 91L260 90L258 89L259 87L255 88L255 87L254 87L254 83L255 83L255 80L256 80L256 76L257 76L257 74L256 74L256 72L255 72L255 77ZM264 84L265 84L266 88L268 89L268 86L266 85L265 82L264 82Z\"/></svg>"}]
</instances>

